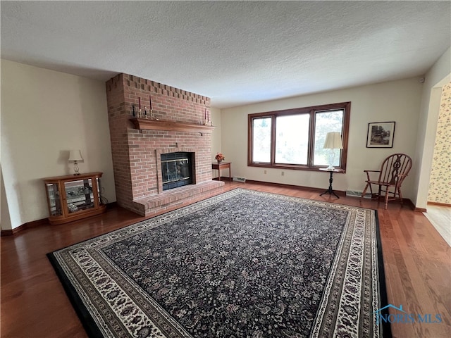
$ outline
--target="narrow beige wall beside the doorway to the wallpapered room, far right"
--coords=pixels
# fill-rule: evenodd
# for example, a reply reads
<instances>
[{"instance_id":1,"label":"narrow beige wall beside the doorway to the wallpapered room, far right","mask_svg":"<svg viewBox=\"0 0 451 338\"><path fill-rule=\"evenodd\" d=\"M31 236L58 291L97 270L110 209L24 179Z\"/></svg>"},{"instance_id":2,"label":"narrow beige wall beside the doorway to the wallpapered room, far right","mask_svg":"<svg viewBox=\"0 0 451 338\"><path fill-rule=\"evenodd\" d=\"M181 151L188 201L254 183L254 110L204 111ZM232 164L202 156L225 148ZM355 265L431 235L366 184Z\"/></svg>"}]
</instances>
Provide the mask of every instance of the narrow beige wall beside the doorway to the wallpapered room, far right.
<instances>
[{"instance_id":1,"label":"narrow beige wall beside the doorway to the wallpapered room, far right","mask_svg":"<svg viewBox=\"0 0 451 338\"><path fill-rule=\"evenodd\" d=\"M415 191L413 202L416 208L426 209L440 96L443 85L451 82L450 73L451 49L449 48L426 73L421 93L421 109L414 161L414 165L419 168L414 175Z\"/></svg>"}]
</instances>

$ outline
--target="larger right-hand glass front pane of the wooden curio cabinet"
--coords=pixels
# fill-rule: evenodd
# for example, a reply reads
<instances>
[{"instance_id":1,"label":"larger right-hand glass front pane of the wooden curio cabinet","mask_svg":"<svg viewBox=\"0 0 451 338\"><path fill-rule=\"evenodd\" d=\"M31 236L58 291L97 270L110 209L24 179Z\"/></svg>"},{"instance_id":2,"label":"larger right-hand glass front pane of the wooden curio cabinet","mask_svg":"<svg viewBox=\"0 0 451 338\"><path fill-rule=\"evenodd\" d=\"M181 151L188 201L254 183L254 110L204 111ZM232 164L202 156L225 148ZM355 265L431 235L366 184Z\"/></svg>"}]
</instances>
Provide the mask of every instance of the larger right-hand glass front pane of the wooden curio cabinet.
<instances>
[{"instance_id":1,"label":"larger right-hand glass front pane of the wooden curio cabinet","mask_svg":"<svg viewBox=\"0 0 451 338\"><path fill-rule=\"evenodd\" d=\"M64 189L66 190L68 213L94 208L94 192L91 178L64 182Z\"/></svg>"}]
</instances>

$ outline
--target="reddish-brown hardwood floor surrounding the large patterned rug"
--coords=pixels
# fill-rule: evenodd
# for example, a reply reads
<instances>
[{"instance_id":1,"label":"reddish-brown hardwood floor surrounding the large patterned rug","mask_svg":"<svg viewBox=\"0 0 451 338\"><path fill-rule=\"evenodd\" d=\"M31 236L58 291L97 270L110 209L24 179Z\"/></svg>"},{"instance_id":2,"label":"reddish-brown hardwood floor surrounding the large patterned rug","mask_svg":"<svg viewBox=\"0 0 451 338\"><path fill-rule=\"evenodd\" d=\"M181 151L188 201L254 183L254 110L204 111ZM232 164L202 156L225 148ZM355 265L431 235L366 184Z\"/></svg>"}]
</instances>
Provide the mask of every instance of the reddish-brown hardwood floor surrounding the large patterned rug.
<instances>
[{"instance_id":1,"label":"reddish-brown hardwood floor surrounding the large patterned rug","mask_svg":"<svg viewBox=\"0 0 451 338\"><path fill-rule=\"evenodd\" d=\"M441 323L395 323L393 337L451 337L451 248L426 217L400 204L276 184L226 182L223 191L245 187L333 203L377 208L388 303L407 313L441 315ZM46 253L144 220L123 208L66 225L42 225L1 237L1 337L87 337ZM390 310L390 313L394 313Z\"/></svg>"}]
</instances>

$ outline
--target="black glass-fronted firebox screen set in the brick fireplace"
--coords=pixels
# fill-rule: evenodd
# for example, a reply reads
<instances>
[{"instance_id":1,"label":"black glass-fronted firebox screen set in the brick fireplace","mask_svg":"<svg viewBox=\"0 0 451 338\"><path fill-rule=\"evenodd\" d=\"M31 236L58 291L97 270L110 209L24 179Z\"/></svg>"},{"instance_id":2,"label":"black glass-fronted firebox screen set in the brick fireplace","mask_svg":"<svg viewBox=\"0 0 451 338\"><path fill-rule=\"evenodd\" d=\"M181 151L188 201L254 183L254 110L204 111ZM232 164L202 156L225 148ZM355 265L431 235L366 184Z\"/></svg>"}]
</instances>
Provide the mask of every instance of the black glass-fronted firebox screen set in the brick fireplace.
<instances>
[{"instance_id":1,"label":"black glass-fronted firebox screen set in the brick fireplace","mask_svg":"<svg viewBox=\"0 0 451 338\"><path fill-rule=\"evenodd\" d=\"M163 190L192 184L191 153L161 154Z\"/></svg>"}]
</instances>

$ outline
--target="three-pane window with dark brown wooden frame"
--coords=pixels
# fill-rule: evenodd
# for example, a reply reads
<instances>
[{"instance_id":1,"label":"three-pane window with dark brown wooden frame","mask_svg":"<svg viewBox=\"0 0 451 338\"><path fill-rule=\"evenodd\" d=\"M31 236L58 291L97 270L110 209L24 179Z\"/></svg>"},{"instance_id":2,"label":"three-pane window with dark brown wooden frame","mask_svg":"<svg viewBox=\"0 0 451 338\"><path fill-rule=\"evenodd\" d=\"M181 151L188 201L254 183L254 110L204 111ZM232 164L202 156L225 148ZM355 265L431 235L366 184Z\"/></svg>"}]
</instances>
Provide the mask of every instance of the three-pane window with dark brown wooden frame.
<instances>
[{"instance_id":1,"label":"three-pane window with dark brown wooden frame","mask_svg":"<svg viewBox=\"0 0 451 338\"><path fill-rule=\"evenodd\" d=\"M249 115L249 166L317 170L328 165L323 149L328 132L342 134L343 149L335 149L336 168L346 170L351 103L295 108Z\"/></svg>"}]
</instances>

